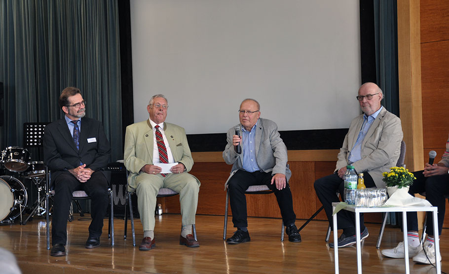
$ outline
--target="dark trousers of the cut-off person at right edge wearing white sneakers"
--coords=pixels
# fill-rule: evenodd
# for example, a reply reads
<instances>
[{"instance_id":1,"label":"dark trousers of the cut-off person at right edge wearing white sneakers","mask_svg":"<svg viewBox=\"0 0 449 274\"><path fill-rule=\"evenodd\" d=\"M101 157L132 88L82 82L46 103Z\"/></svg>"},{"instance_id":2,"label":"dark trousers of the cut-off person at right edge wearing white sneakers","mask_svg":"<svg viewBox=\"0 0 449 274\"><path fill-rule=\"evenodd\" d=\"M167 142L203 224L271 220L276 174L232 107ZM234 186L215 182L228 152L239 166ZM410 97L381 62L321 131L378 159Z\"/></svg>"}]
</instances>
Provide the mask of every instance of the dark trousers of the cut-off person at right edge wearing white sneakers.
<instances>
[{"instance_id":1,"label":"dark trousers of the cut-off person at right edge wearing white sneakers","mask_svg":"<svg viewBox=\"0 0 449 274\"><path fill-rule=\"evenodd\" d=\"M445 195L449 195L449 174L424 177L423 171L415 171L413 175L416 179L410 186L409 194L426 193L426 200L432 206L438 207L438 235L441 235L443 222L445 219L446 199ZM416 212L407 212L407 229L409 231L418 231L418 218ZM427 214L426 233L435 235L433 231L432 214Z\"/></svg>"}]
</instances>

